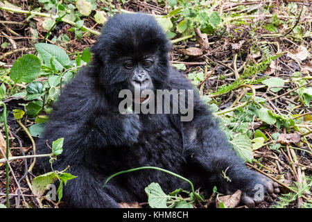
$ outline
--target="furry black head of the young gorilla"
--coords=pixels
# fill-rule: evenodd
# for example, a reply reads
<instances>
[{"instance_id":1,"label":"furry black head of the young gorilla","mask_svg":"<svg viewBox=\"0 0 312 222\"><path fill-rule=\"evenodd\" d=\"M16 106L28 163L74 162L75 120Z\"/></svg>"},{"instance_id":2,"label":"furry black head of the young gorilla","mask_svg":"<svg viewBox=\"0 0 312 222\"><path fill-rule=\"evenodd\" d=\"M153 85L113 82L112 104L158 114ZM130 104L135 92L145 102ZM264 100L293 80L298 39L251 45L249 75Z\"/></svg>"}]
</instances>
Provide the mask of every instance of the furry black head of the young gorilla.
<instances>
[{"instance_id":1,"label":"furry black head of the young gorilla","mask_svg":"<svg viewBox=\"0 0 312 222\"><path fill-rule=\"evenodd\" d=\"M103 28L95 46L98 83L118 101L121 89L161 89L168 74L171 43L150 15L114 16ZM105 71L105 74L100 70ZM140 103L146 98L140 98Z\"/></svg>"}]
</instances>

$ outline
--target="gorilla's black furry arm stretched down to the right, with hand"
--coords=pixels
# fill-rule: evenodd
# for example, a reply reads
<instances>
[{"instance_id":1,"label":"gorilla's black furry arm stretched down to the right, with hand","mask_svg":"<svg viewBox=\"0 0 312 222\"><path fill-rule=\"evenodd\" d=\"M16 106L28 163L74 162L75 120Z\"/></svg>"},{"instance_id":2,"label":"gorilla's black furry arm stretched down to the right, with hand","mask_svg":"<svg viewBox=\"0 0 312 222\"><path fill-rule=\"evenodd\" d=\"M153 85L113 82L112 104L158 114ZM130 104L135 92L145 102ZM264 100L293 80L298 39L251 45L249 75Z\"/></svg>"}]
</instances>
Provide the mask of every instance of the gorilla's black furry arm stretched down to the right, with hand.
<instances>
[{"instance_id":1,"label":"gorilla's black furry arm stretched down to the right, with hand","mask_svg":"<svg viewBox=\"0 0 312 222\"><path fill-rule=\"evenodd\" d=\"M194 89L187 78L172 74L173 87ZM263 185L264 193L278 192L276 183L245 167L198 94L194 93L193 120L181 122L181 126L184 155L189 164L207 172L207 185L216 185L227 194L241 189L241 200L249 207L261 202L254 196L256 185Z\"/></svg>"}]
</instances>

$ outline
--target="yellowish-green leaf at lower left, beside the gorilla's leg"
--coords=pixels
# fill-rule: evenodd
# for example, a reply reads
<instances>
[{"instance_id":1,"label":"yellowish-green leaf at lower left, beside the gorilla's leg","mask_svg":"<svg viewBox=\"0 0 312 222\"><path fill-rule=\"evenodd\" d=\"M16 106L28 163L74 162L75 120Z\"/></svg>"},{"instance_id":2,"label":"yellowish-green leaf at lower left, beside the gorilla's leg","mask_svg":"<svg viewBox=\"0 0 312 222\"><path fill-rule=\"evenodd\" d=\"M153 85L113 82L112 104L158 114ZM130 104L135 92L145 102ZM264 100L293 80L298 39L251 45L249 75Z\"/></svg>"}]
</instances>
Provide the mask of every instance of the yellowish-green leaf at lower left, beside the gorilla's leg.
<instances>
[{"instance_id":1,"label":"yellowish-green leaf at lower left, beside the gorilla's leg","mask_svg":"<svg viewBox=\"0 0 312 222\"><path fill-rule=\"evenodd\" d=\"M55 182L57 179L58 177L54 172L44 173L33 178L32 187L34 194L37 196L42 196L48 185Z\"/></svg>"}]
</instances>

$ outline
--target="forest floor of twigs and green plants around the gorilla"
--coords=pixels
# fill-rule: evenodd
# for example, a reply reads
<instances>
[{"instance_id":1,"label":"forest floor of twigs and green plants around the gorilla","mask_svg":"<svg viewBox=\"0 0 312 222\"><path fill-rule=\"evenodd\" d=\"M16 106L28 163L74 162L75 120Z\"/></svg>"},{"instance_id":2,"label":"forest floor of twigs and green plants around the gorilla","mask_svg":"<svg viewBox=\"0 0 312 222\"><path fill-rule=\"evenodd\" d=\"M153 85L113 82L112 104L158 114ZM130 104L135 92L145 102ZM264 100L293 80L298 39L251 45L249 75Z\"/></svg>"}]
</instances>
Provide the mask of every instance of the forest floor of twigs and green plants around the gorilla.
<instances>
[{"instance_id":1,"label":"forest floor of twigs and green plants around the gorilla","mask_svg":"<svg viewBox=\"0 0 312 222\"><path fill-rule=\"evenodd\" d=\"M44 40L59 46L76 62L73 67L78 66L80 60L88 60L85 49L96 42L101 23L119 12L138 11L155 15L173 42L172 65L198 87L248 167L279 183L277 200L257 207L312 207L311 1L0 2L0 101L9 112L10 157L34 154L33 139L61 87L52 82L64 74L42 65L45 73L33 80L43 83L44 91L34 94L28 91L33 80L15 80L10 71L17 59L37 55L35 44ZM0 148L6 152L2 106L0 114ZM32 191L33 178L42 174L29 169L32 162L33 158L10 162L10 206L66 207ZM222 194L202 194L205 201L193 207L224 207ZM222 202L238 205L233 196ZM6 205L4 161L0 205Z\"/></svg>"}]
</instances>

